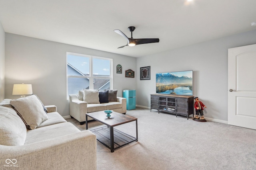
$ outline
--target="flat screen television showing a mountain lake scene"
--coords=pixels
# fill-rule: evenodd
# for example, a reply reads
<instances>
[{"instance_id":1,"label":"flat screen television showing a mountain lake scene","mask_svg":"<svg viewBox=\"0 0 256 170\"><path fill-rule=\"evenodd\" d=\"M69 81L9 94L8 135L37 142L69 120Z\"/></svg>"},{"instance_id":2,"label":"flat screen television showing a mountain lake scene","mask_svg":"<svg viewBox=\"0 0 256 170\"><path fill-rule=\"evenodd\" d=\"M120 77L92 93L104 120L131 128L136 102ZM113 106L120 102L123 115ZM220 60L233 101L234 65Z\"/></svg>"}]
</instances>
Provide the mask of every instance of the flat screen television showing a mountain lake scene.
<instances>
[{"instance_id":1,"label":"flat screen television showing a mountain lake scene","mask_svg":"<svg viewBox=\"0 0 256 170\"><path fill-rule=\"evenodd\" d=\"M193 96L193 70L156 73L156 93Z\"/></svg>"}]
</instances>

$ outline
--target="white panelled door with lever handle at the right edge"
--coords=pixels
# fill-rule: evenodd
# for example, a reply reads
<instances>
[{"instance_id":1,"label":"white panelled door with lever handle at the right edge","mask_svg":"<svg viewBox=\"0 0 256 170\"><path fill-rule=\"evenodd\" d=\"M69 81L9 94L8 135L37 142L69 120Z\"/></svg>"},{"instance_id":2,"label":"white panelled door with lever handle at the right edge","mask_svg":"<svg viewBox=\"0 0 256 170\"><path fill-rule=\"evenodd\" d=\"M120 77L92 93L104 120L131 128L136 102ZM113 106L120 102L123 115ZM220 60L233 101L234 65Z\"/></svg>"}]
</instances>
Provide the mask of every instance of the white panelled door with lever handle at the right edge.
<instances>
[{"instance_id":1,"label":"white panelled door with lever handle at the right edge","mask_svg":"<svg viewBox=\"0 0 256 170\"><path fill-rule=\"evenodd\" d=\"M228 49L228 124L256 129L256 44Z\"/></svg>"}]
</instances>

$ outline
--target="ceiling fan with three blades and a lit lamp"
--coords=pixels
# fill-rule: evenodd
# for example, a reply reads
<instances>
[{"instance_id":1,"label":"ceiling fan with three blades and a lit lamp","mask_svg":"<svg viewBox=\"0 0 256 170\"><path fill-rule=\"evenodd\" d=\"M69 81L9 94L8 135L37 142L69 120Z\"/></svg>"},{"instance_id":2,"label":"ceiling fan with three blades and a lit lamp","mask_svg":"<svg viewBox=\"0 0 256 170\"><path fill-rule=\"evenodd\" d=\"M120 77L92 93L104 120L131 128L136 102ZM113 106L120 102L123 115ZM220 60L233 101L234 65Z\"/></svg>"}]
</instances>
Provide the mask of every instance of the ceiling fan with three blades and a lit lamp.
<instances>
[{"instance_id":1,"label":"ceiling fan with three blades and a lit lamp","mask_svg":"<svg viewBox=\"0 0 256 170\"><path fill-rule=\"evenodd\" d=\"M131 27L128 27L128 30L132 32L135 30L135 27L131 26ZM125 46L135 46L135 45L140 45L140 44L148 44L148 43L158 43L159 42L159 38L141 38L141 39L134 39L132 36L131 38L128 38L124 33L122 33L122 31L120 31L119 29L115 29L114 30L116 33L118 33L119 35L122 35L128 42L127 42L127 45L124 45L124 46L121 46L121 47L118 47L119 48L122 48L122 47L125 47Z\"/></svg>"}]
</instances>

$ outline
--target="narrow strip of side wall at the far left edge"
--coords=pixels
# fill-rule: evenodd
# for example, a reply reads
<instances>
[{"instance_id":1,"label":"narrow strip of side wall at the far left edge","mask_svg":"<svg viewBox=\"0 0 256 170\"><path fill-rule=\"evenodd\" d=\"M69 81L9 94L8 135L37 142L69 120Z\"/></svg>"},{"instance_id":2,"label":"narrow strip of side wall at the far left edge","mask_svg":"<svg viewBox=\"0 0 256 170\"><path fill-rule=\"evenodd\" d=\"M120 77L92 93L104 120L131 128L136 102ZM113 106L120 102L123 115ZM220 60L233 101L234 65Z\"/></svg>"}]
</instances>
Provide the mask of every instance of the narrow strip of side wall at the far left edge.
<instances>
[{"instance_id":1,"label":"narrow strip of side wall at the far left edge","mask_svg":"<svg viewBox=\"0 0 256 170\"><path fill-rule=\"evenodd\" d=\"M0 101L4 100L5 33L0 21Z\"/></svg>"}]
</instances>

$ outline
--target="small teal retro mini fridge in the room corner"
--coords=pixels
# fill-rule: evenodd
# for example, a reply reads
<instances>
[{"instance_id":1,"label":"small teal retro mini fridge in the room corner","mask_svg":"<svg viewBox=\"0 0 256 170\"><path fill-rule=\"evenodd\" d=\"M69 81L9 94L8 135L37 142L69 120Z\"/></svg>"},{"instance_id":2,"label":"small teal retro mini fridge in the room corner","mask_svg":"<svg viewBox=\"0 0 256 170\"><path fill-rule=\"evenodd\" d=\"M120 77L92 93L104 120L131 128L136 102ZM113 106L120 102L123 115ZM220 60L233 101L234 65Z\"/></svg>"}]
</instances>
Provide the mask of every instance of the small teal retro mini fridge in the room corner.
<instances>
[{"instance_id":1,"label":"small teal retro mini fridge in the room corner","mask_svg":"<svg viewBox=\"0 0 256 170\"><path fill-rule=\"evenodd\" d=\"M136 109L136 90L123 90L123 98L126 98L126 109Z\"/></svg>"}]
</instances>

